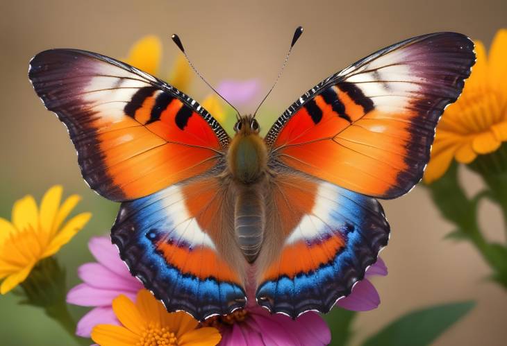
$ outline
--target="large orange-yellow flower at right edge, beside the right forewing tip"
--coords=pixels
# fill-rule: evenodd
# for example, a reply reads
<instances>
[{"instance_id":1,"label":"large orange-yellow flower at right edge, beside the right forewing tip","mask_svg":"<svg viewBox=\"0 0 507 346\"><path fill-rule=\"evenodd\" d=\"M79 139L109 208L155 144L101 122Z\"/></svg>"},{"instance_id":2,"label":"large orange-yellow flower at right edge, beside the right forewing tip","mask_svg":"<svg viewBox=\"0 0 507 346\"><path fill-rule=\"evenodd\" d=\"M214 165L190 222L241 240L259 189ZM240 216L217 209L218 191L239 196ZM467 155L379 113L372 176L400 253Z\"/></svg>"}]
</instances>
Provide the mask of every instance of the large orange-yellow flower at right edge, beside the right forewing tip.
<instances>
[{"instance_id":1,"label":"large orange-yellow flower at right edge, beside the right forewing tip","mask_svg":"<svg viewBox=\"0 0 507 346\"><path fill-rule=\"evenodd\" d=\"M463 94L438 124L426 183L444 175L453 158L469 164L507 141L507 30L495 35L489 58L482 42L475 41L475 51L477 61Z\"/></svg>"}]
</instances>

